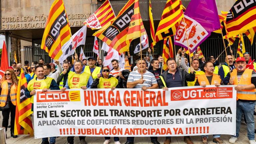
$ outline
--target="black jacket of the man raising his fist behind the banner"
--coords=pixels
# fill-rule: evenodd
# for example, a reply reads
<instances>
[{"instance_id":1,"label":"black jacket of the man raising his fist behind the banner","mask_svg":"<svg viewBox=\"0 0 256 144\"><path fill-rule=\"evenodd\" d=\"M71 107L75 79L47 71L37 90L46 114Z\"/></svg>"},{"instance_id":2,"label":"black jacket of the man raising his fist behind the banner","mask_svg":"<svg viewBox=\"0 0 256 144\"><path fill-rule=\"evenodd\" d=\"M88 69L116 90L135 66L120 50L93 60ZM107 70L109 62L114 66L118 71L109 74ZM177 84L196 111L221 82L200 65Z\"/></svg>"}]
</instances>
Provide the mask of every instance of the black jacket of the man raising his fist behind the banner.
<instances>
[{"instance_id":1,"label":"black jacket of the man raising his fist behind the banner","mask_svg":"<svg viewBox=\"0 0 256 144\"><path fill-rule=\"evenodd\" d=\"M187 73L184 69L181 69L181 68L177 68L177 71L178 71L178 72L180 73L180 75L181 75L182 86L183 86L183 87L184 87L184 86L188 86L187 81L194 81L194 80L195 80L195 77L196 77L195 73L193 73L193 74L190 73L190 74L189 74L189 73ZM164 79L164 83L168 83L168 82L166 82L167 73L168 73L168 70L165 71L165 72L163 72L163 73L161 74L161 76L160 76L160 77L162 77L162 78ZM164 86L164 83L163 83L162 79L160 78L159 85L158 85L159 88L165 87L165 86Z\"/></svg>"}]
</instances>

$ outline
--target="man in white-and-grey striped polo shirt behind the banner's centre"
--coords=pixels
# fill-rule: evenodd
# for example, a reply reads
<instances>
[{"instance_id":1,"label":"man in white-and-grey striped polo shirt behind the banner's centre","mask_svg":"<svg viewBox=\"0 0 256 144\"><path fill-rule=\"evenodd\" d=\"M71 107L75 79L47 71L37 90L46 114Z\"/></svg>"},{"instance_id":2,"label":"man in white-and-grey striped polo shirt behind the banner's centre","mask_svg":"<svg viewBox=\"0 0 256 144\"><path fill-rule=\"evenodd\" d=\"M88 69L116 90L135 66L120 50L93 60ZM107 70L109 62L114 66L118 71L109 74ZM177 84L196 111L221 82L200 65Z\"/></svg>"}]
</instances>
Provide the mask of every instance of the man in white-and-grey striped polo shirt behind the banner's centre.
<instances>
[{"instance_id":1,"label":"man in white-and-grey striped polo shirt behind the banner's centre","mask_svg":"<svg viewBox=\"0 0 256 144\"><path fill-rule=\"evenodd\" d=\"M130 72L127 79L127 88L141 88L143 91L147 89L157 89L158 84L154 74L146 70L146 60L138 59L138 70ZM160 144L157 137L150 137L153 144ZM133 144L134 137L127 137L125 144Z\"/></svg>"}]
</instances>

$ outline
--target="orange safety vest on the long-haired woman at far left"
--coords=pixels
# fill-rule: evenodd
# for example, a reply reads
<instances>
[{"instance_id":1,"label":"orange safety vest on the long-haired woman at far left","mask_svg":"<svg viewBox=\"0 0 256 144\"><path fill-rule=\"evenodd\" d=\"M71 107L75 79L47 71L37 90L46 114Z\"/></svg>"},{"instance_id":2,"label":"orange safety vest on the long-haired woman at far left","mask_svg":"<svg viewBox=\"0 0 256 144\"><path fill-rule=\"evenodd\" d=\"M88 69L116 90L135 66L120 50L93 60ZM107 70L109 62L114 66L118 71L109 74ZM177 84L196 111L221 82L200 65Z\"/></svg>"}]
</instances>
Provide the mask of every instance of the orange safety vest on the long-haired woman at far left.
<instances>
[{"instance_id":1,"label":"orange safety vest on the long-haired woman at far left","mask_svg":"<svg viewBox=\"0 0 256 144\"><path fill-rule=\"evenodd\" d=\"M7 100L7 96L8 96L8 83L7 80L4 80L2 82L1 85L2 91L1 91L1 96L0 96L0 106L4 107L6 100ZM11 101L13 105L16 105L16 99L17 99L17 88L18 86L16 86L15 84L12 85L11 87L11 92L10 92L10 96L11 96Z\"/></svg>"}]
</instances>

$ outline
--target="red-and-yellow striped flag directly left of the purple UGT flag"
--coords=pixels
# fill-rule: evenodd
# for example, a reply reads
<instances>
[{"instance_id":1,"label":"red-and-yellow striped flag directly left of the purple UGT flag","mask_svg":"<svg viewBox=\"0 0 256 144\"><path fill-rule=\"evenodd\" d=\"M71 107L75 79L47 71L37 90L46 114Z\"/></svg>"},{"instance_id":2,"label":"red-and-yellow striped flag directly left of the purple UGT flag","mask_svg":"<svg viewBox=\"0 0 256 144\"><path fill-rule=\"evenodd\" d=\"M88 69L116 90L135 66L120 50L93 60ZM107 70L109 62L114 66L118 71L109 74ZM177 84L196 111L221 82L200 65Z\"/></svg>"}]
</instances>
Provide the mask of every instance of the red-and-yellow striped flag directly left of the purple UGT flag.
<instances>
[{"instance_id":1,"label":"red-and-yellow striped flag directly left of the purple UGT flag","mask_svg":"<svg viewBox=\"0 0 256 144\"><path fill-rule=\"evenodd\" d=\"M179 26L179 21L184 17L181 0L167 0L161 20L156 30L155 42L173 36ZM173 27L174 25L176 27ZM175 32L173 32L175 31Z\"/></svg>"}]
</instances>

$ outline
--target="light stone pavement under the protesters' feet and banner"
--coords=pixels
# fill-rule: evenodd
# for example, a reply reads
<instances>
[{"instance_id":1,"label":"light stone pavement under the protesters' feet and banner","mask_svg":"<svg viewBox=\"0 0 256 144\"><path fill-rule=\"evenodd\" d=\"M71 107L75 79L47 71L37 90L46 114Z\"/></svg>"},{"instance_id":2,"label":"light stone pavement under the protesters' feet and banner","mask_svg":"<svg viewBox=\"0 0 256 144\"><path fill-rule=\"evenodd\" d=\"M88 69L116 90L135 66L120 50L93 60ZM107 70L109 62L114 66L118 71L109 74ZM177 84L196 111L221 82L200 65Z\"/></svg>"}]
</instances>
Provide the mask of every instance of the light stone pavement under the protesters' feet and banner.
<instances>
[{"instance_id":1,"label":"light stone pavement under the protesters' feet and banner","mask_svg":"<svg viewBox=\"0 0 256 144\"><path fill-rule=\"evenodd\" d=\"M0 126L2 126L2 112L0 112ZM33 117L32 117L33 119ZM255 120L255 118L254 118ZM10 123L10 118L9 118ZM228 140L230 138L230 135L221 135L221 139L224 141L224 143L229 144ZM215 144L212 141L213 137L212 135L209 136L208 144ZM103 144L104 137L86 137L85 138L87 144ZM163 144L165 140L165 137L158 137L158 141L160 144ZM194 142L194 144L201 144L201 136L191 136L191 140ZM10 128L7 130L7 144L41 144L41 139L35 139L34 137L30 137L29 135L18 135L18 138L12 138L10 134ZM124 144L126 142L126 137L120 137L120 143ZM56 144L67 144L67 137L58 137L56 139ZM75 137L74 144L80 144L79 138ZM114 144L114 139L111 138L110 144ZM134 140L134 144L152 144L150 142L149 137L136 137ZM171 144L186 144L183 142L183 137L172 137ZM246 125L241 125L240 128L240 134L237 142L235 144L249 144L249 140L247 138L247 129Z\"/></svg>"}]
</instances>

